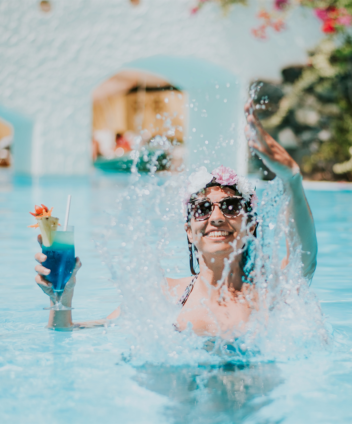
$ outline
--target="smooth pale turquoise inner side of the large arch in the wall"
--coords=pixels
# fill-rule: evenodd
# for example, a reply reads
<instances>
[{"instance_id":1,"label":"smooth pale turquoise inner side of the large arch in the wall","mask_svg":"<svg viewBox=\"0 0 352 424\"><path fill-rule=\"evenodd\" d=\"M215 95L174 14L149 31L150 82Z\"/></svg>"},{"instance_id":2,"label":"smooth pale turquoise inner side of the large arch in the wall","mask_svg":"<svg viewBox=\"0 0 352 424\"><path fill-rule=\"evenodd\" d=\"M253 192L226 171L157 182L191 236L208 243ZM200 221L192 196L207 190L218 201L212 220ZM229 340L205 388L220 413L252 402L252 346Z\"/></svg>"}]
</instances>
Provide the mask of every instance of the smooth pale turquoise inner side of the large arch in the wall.
<instances>
[{"instance_id":1,"label":"smooth pale turquoise inner side of the large arch in the wall","mask_svg":"<svg viewBox=\"0 0 352 424\"><path fill-rule=\"evenodd\" d=\"M124 71L153 75L187 93L188 118L184 125L187 167L205 165L212 169L223 164L241 174L247 173L242 111L246 99L234 73L196 57L164 55L129 62L119 73Z\"/></svg>"}]
</instances>

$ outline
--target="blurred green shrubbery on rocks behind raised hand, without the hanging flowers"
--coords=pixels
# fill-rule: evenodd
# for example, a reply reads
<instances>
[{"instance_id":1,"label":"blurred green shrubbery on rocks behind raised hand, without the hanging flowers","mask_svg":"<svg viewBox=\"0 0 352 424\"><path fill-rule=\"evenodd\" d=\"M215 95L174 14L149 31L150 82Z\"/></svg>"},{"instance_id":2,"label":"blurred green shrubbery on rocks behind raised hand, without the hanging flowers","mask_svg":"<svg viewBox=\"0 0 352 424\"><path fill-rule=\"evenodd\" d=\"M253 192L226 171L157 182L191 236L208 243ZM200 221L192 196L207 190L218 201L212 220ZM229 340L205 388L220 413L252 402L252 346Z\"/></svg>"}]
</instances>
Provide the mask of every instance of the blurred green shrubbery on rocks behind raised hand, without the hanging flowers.
<instances>
[{"instance_id":1,"label":"blurred green shrubbery on rocks behind raised hand, without the hanging flowers","mask_svg":"<svg viewBox=\"0 0 352 424\"><path fill-rule=\"evenodd\" d=\"M346 37L336 48L325 39L293 82L287 81L289 71L283 71L286 81L277 86L282 97L269 101L261 113L264 127L286 148L291 134L296 145L291 140L288 150L306 176L352 181L352 40ZM263 88L261 98L268 91ZM344 166L336 164L344 161Z\"/></svg>"}]
</instances>

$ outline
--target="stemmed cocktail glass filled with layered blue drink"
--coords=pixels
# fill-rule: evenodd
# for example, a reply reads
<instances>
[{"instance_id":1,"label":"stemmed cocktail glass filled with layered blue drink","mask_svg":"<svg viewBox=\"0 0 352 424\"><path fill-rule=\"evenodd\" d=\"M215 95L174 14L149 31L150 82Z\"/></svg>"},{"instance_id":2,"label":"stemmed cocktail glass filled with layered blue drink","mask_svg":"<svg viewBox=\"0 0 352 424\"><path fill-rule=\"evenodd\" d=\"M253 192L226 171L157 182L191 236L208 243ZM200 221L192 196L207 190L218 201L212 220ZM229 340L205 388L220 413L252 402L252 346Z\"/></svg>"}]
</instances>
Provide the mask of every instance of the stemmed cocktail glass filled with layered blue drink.
<instances>
[{"instance_id":1,"label":"stemmed cocktail glass filled with layered blue drink","mask_svg":"<svg viewBox=\"0 0 352 424\"><path fill-rule=\"evenodd\" d=\"M42 252L47 255L47 260L42 265L50 269L50 274L46 276L46 279L52 283L56 303L43 309L70 310L74 308L64 306L61 299L76 263L74 257L74 227L69 225L66 230L57 225L52 227L55 227L52 228L53 243L50 247L42 246Z\"/></svg>"}]
</instances>

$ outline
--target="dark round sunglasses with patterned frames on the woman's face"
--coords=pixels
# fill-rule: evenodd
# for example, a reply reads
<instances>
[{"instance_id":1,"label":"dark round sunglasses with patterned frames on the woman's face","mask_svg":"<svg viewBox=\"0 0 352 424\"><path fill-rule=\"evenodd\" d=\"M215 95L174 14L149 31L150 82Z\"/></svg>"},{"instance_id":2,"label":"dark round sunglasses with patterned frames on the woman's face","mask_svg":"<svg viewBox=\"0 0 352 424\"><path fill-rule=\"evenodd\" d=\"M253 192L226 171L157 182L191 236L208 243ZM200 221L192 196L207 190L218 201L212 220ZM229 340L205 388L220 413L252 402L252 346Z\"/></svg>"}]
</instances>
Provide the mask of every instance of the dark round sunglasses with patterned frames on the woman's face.
<instances>
[{"instance_id":1,"label":"dark round sunglasses with patterned frames on the woman's face","mask_svg":"<svg viewBox=\"0 0 352 424\"><path fill-rule=\"evenodd\" d=\"M245 200L241 196L224 197L220 202L212 202L208 198L195 199L187 204L188 217L196 221L204 221L212 215L217 205L226 218L235 218L241 211L247 212Z\"/></svg>"}]
</instances>

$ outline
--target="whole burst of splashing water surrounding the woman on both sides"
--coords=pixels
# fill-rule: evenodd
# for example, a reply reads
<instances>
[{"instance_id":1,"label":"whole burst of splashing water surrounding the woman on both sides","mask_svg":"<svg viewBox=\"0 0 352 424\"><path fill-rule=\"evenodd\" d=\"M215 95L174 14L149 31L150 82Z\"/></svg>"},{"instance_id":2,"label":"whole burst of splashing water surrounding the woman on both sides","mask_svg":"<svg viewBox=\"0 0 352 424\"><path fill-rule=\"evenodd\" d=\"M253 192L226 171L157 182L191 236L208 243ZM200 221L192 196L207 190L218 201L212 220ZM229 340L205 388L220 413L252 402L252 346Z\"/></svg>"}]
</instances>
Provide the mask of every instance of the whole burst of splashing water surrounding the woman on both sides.
<instances>
[{"instance_id":1,"label":"whole burst of splashing water surrounding the woman on both sides","mask_svg":"<svg viewBox=\"0 0 352 424\"><path fill-rule=\"evenodd\" d=\"M189 275L187 237L176 194L184 179L183 174L140 176L136 171L111 214L108 237L115 245L101 250L122 302L116 322L130 345L123 359L134 365L243 363L306 357L330 349L332 338L319 303L302 275L300 248L289 226L289 198L279 179L263 193L257 238L247 240L253 280L245 294L253 309L247 332L236 338L234 331L233 338L221 340L198 337L191 325L184 332L175 331L179 307L176 293L168 294L165 277L168 272L176 278ZM281 270L286 237L290 262Z\"/></svg>"}]
</instances>

